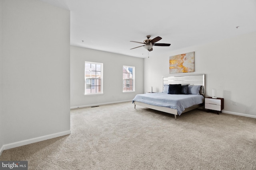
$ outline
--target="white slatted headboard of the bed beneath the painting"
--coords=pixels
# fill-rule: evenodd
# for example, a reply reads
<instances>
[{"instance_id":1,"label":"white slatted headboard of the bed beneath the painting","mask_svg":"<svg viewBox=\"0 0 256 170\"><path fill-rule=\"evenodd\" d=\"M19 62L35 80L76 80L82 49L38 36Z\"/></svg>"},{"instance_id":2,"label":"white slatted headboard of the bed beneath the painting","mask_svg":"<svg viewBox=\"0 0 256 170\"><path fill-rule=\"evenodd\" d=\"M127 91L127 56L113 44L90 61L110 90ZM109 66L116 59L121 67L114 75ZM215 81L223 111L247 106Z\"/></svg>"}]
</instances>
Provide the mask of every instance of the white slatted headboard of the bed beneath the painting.
<instances>
[{"instance_id":1,"label":"white slatted headboard of the bed beneath the painting","mask_svg":"<svg viewBox=\"0 0 256 170\"><path fill-rule=\"evenodd\" d=\"M163 76L163 88L165 84L182 84L182 85L201 85L200 94L205 95L205 81L204 74L188 74L188 75L175 75Z\"/></svg>"}]
</instances>

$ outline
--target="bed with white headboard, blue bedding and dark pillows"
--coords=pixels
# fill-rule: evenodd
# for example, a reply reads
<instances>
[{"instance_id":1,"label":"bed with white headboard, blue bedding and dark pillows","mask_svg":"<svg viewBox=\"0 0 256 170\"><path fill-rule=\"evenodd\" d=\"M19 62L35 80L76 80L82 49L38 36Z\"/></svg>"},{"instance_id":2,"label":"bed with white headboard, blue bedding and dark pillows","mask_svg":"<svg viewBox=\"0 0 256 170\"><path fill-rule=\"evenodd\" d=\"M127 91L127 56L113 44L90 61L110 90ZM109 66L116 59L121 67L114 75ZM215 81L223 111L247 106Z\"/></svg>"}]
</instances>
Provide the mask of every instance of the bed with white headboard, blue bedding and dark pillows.
<instances>
[{"instance_id":1,"label":"bed with white headboard, blue bedding and dark pillows","mask_svg":"<svg viewBox=\"0 0 256 170\"><path fill-rule=\"evenodd\" d=\"M188 87L188 94L172 94L168 89L169 84L171 84L172 88L176 87L177 84L179 87L182 86L182 88ZM132 100L134 109L138 105L163 111L174 114L176 120L177 115L204 106L204 74L162 76L162 87L163 92L137 94ZM171 94L168 94L168 92Z\"/></svg>"}]
</instances>

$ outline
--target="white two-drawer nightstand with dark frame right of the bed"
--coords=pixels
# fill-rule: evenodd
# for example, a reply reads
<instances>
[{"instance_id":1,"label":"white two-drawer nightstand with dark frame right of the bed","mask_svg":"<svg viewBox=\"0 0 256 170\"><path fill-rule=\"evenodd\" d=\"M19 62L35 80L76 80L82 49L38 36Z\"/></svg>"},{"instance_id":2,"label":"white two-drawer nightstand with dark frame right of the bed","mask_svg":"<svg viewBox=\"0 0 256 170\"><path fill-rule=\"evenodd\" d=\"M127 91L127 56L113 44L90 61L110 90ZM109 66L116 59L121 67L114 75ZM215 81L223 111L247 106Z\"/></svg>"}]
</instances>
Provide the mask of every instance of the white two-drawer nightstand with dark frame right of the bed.
<instances>
[{"instance_id":1,"label":"white two-drawer nightstand with dark frame right of the bed","mask_svg":"<svg viewBox=\"0 0 256 170\"><path fill-rule=\"evenodd\" d=\"M221 112L224 109L224 98L208 97L204 99L204 108Z\"/></svg>"}]
</instances>

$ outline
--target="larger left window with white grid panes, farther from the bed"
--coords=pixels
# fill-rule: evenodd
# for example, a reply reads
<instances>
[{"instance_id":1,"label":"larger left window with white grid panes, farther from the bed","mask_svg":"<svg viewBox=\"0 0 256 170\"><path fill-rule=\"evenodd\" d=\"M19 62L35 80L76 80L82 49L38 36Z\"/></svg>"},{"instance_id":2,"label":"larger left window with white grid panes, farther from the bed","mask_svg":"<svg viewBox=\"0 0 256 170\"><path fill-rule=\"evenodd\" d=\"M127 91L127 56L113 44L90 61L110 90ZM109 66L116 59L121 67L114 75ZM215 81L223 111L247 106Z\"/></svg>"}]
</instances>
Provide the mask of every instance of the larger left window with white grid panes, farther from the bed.
<instances>
[{"instance_id":1,"label":"larger left window with white grid panes, farther from the bed","mask_svg":"<svg viewBox=\"0 0 256 170\"><path fill-rule=\"evenodd\" d=\"M101 94L102 91L102 63L85 62L85 94Z\"/></svg>"}]
</instances>

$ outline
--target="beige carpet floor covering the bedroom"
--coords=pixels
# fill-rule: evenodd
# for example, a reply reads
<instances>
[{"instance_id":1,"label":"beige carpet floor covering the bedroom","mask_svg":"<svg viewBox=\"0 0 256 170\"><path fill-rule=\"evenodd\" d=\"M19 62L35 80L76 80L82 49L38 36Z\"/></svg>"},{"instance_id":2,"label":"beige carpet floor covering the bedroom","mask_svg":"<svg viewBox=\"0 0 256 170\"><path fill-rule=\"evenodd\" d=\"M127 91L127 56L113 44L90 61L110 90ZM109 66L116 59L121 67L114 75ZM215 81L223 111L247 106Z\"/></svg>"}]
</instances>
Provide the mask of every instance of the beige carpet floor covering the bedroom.
<instances>
[{"instance_id":1,"label":"beige carpet floor covering the bedroom","mask_svg":"<svg viewBox=\"0 0 256 170\"><path fill-rule=\"evenodd\" d=\"M255 170L256 119L131 102L71 110L72 134L4 150L30 170Z\"/></svg>"}]
</instances>

